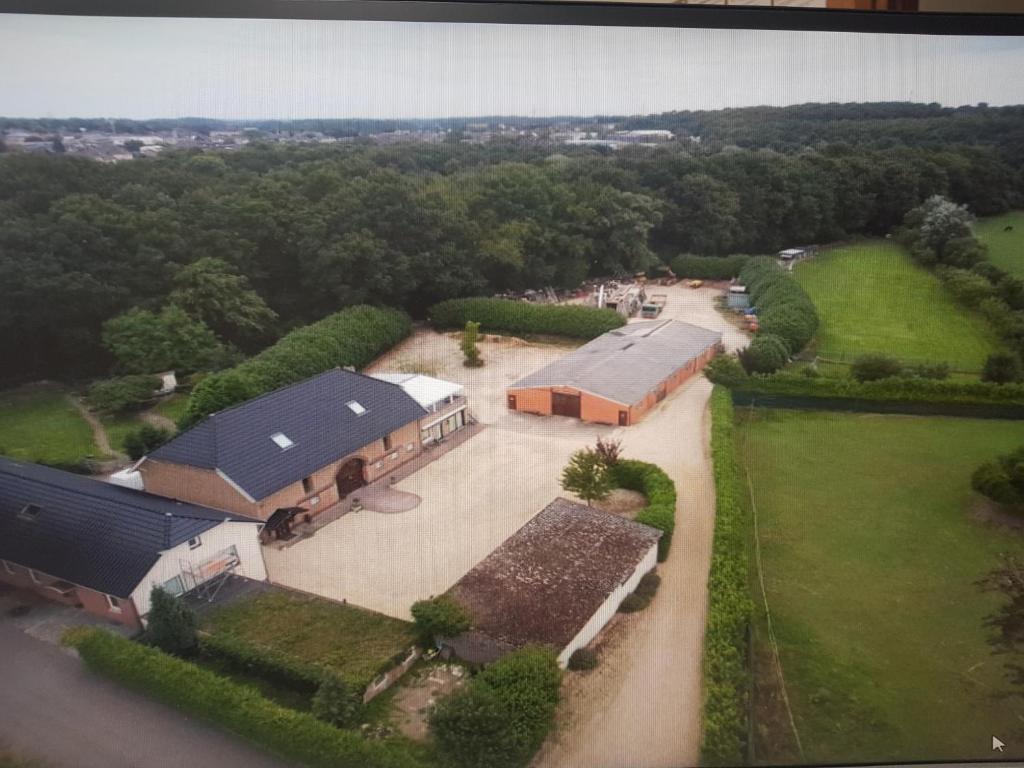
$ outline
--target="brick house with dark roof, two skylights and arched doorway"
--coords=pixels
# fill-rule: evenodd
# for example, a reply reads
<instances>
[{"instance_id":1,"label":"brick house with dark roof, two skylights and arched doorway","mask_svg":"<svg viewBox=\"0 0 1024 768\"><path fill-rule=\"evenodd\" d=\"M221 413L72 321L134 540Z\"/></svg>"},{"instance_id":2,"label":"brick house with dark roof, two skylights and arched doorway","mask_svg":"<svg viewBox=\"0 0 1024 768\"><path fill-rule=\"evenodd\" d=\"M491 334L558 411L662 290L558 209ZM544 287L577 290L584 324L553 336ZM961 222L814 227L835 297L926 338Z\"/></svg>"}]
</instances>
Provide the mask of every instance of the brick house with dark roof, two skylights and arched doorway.
<instances>
[{"instance_id":1,"label":"brick house with dark roof, two skylights and arched doorway","mask_svg":"<svg viewBox=\"0 0 1024 768\"><path fill-rule=\"evenodd\" d=\"M261 520L312 517L420 457L421 422L446 414L400 384L334 369L212 414L137 470L160 496Z\"/></svg>"}]
</instances>

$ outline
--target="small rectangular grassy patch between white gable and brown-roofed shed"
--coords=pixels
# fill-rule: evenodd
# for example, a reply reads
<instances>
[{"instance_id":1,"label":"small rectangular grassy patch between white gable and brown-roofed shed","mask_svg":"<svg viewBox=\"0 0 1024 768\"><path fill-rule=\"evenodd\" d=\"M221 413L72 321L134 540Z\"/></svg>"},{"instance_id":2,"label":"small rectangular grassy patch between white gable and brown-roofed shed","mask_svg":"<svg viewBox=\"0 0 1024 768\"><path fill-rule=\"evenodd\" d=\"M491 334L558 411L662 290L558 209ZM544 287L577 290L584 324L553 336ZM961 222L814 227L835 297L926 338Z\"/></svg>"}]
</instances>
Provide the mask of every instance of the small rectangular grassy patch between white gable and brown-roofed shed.
<instances>
[{"instance_id":1,"label":"small rectangular grassy patch between white gable and brown-roofed shed","mask_svg":"<svg viewBox=\"0 0 1024 768\"><path fill-rule=\"evenodd\" d=\"M204 616L203 627L330 667L358 686L415 641L408 622L279 591L217 608Z\"/></svg>"}]
</instances>

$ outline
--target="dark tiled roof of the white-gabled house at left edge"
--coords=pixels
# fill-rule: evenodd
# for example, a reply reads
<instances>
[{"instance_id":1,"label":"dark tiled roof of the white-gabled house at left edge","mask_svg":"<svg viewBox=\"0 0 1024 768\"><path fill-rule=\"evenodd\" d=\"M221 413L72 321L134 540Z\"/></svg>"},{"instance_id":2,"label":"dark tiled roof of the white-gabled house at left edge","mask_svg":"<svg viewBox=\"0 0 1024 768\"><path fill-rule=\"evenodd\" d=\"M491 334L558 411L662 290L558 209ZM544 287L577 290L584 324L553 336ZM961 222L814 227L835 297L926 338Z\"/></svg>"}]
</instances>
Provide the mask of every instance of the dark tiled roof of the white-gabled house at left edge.
<instances>
[{"instance_id":1,"label":"dark tiled roof of the white-gabled house at left edge","mask_svg":"<svg viewBox=\"0 0 1024 768\"><path fill-rule=\"evenodd\" d=\"M40 511L24 519L30 504ZM0 559L116 597L162 551L224 520L260 522L0 457Z\"/></svg>"}]
</instances>

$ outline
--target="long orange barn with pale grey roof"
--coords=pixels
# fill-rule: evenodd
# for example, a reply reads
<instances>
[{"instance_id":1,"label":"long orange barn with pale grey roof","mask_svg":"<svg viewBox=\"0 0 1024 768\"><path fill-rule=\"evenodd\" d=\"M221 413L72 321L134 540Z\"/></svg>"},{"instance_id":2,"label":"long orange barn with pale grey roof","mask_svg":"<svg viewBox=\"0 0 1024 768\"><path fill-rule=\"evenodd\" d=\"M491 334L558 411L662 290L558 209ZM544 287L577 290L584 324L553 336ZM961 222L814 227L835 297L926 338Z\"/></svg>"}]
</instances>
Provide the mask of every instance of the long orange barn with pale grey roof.
<instances>
[{"instance_id":1,"label":"long orange barn with pale grey roof","mask_svg":"<svg viewBox=\"0 0 1024 768\"><path fill-rule=\"evenodd\" d=\"M630 323L512 384L510 411L636 424L722 349L722 334L680 321Z\"/></svg>"}]
</instances>

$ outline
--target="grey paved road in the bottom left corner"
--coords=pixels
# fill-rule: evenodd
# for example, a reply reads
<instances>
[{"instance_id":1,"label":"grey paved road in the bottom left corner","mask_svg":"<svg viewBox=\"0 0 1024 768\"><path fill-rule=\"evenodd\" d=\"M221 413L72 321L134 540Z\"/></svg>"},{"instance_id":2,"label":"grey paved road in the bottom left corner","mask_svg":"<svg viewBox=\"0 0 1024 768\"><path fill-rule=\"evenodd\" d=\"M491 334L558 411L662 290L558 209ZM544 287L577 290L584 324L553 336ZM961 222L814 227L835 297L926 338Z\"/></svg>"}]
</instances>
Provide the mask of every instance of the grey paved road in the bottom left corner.
<instances>
[{"instance_id":1,"label":"grey paved road in the bottom left corner","mask_svg":"<svg viewBox=\"0 0 1024 768\"><path fill-rule=\"evenodd\" d=\"M90 674L0 620L0 743L68 768L284 768L254 746Z\"/></svg>"}]
</instances>

